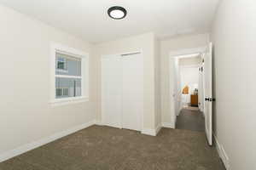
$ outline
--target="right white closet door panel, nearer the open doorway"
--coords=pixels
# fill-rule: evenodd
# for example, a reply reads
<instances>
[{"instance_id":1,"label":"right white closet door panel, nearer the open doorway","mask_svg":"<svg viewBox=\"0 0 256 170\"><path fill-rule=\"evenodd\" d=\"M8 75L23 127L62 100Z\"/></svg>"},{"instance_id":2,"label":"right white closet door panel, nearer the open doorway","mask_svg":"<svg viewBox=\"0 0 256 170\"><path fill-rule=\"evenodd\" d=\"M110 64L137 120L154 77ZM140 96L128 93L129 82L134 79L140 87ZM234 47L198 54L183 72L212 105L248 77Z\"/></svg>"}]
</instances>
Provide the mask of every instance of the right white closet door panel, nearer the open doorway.
<instances>
[{"instance_id":1,"label":"right white closet door panel, nearer the open doorway","mask_svg":"<svg viewBox=\"0 0 256 170\"><path fill-rule=\"evenodd\" d=\"M122 55L122 127L142 130L143 56Z\"/></svg>"}]
</instances>

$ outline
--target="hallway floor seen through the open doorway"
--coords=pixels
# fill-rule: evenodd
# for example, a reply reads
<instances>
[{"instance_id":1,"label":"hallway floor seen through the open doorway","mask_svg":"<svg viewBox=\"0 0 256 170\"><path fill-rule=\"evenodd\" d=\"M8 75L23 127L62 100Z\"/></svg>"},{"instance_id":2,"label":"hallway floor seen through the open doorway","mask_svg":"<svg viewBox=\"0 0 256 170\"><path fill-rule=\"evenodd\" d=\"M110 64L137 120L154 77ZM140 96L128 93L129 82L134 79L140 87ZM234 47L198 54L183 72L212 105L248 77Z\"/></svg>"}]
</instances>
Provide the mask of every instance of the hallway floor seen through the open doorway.
<instances>
[{"instance_id":1,"label":"hallway floor seen through the open doorway","mask_svg":"<svg viewBox=\"0 0 256 170\"><path fill-rule=\"evenodd\" d=\"M186 129L197 132L205 131L205 119L198 107L186 107L177 116L177 129Z\"/></svg>"}]
</instances>

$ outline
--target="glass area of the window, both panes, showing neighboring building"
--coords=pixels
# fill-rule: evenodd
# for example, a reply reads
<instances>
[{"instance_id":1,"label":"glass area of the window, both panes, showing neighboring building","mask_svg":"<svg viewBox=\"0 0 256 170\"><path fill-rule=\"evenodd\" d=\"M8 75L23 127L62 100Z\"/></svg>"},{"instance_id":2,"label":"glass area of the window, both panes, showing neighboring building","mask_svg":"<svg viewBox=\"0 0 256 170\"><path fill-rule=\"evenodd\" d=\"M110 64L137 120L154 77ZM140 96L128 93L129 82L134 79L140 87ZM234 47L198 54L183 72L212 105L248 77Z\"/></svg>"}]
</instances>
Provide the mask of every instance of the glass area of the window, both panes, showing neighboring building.
<instances>
[{"instance_id":1,"label":"glass area of the window, both panes, showing neighboring building","mask_svg":"<svg viewBox=\"0 0 256 170\"><path fill-rule=\"evenodd\" d=\"M55 53L55 98L79 97L81 89L81 59Z\"/></svg>"}]
</instances>

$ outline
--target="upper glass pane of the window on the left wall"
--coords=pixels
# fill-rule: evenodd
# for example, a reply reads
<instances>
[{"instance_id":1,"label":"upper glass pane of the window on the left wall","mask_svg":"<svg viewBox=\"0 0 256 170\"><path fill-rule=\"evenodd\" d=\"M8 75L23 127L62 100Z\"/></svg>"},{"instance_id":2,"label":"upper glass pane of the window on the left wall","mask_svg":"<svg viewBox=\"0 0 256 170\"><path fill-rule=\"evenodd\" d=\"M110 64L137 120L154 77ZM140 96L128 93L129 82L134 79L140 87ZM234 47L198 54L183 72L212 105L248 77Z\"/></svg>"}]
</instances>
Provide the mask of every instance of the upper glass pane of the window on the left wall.
<instances>
[{"instance_id":1,"label":"upper glass pane of the window on the left wall","mask_svg":"<svg viewBox=\"0 0 256 170\"><path fill-rule=\"evenodd\" d=\"M56 75L81 76L81 59L56 53Z\"/></svg>"}]
</instances>

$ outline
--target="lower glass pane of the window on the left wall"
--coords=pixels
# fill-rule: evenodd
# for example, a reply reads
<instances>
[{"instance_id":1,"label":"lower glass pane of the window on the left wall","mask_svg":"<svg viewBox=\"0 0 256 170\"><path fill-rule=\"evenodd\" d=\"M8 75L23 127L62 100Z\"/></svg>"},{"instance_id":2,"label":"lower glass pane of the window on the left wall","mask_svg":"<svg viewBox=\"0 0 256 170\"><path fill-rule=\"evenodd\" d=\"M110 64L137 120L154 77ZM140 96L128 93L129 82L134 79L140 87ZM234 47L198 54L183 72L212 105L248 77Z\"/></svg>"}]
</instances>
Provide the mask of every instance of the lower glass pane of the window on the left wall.
<instances>
[{"instance_id":1,"label":"lower glass pane of the window on the left wall","mask_svg":"<svg viewBox=\"0 0 256 170\"><path fill-rule=\"evenodd\" d=\"M56 99L82 95L81 79L55 77Z\"/></svg>"}]
</instances>

